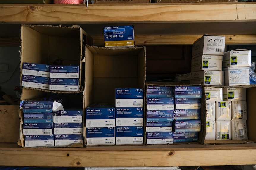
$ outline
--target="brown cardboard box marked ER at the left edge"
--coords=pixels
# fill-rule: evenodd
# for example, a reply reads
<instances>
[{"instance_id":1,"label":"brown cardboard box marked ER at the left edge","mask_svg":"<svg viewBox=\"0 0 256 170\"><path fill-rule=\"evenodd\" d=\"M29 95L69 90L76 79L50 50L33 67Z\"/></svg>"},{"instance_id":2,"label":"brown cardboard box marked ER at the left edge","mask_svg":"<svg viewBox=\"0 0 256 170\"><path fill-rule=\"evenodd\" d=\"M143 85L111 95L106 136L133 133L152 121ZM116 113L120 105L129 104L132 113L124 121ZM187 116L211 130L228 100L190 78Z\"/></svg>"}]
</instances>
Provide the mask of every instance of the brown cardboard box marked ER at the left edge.
<instances>
[{"instance_id":1,"label":"brown cardboard box marked ER at the left edge","mask_svg":"<svg viewBox=\"0 0 256 170\"><path fill-rule=\"evenodd\" d=\"M0 105L0 143L17 143L20 118L18 105Z\"/></svg>"}]
</instances>

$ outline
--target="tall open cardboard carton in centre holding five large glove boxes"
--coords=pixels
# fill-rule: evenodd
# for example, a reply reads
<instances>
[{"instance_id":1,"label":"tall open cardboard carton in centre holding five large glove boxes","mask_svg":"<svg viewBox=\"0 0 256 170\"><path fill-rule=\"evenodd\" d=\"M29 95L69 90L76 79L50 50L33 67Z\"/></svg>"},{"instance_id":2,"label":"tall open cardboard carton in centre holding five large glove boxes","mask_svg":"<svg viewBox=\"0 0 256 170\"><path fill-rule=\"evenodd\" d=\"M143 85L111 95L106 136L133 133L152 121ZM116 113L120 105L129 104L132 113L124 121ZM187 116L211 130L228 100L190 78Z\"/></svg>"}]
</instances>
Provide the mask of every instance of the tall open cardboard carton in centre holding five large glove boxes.
<instances>
[{"instance_id":1,"label":"tall open cardboard carton in centre holding five large glove boxes","mask_svg":"<svg viewBox=\"0 0 256 170\"><path fill-rule=\"evenodd\" d=\"M131 48L86 46L84 108L97 102L115 103L115 88L144 89L145 51L145 46ZM84 127L84 135L85 133L86 127Z\"/></svg>"}]
</instances>

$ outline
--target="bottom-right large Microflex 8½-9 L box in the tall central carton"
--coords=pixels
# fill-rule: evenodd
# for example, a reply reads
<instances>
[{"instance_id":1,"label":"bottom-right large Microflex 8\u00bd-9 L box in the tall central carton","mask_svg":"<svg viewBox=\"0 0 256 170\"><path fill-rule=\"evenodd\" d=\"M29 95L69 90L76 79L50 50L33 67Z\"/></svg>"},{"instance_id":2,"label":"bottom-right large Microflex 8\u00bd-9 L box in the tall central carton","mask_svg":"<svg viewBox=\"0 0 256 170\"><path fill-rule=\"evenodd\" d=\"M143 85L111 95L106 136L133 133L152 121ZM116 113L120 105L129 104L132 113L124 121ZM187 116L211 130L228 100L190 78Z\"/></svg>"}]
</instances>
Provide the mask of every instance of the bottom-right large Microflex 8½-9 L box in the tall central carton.
<instances>
[{"instance_id":1,"label":"bottom-right large Microflex 8\u00bd-9 L box in the tall central carton","mask_svg":"<svg viewBox=\"0 0 256 170\"><path fill-rule=\"evenodd\" d=\"M143 126L116 126L116 145L143 144Z\"/></svg>"}]
</instances>

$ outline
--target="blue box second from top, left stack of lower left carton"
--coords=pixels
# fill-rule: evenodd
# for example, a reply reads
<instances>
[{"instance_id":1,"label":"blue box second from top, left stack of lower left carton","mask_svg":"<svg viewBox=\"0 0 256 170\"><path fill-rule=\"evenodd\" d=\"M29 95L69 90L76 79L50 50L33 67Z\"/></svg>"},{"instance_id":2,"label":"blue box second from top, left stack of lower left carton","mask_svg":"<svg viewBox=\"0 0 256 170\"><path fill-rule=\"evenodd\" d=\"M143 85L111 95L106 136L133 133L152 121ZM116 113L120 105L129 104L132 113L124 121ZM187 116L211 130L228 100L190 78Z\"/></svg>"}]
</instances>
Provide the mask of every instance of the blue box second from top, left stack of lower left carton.
<instances>
[{"instance_id":1,"label":"blue box second from top, left stack of lower left carton","mask_svg":"<svg viewBox=\"0 0 256 170\"><path fill-rule=\"evenodd\" d=\"M53 114L50 112L24 113L23 118L25 123L53 123Z\"/></svg>"}]
</instances>

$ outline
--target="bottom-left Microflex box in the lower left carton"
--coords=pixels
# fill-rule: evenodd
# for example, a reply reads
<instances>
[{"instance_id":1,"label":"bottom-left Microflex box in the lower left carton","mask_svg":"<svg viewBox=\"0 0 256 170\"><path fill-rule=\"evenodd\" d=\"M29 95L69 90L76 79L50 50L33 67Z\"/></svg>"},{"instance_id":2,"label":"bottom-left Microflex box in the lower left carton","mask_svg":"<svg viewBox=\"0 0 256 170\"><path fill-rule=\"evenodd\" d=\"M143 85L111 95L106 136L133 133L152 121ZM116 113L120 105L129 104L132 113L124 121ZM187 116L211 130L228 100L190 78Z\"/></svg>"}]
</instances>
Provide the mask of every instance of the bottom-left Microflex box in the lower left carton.
<instances>
[{"instance_id":1,"label":"bottom-left Microflex box in the lower left carton","mask_svg":"<svg viewBox=\"0 0 256 170\"><path fill-rule=\"evenodd\" d=\"M25 147L54 146L54 135L25 135Z\"/></svg>"}]
</instances>

